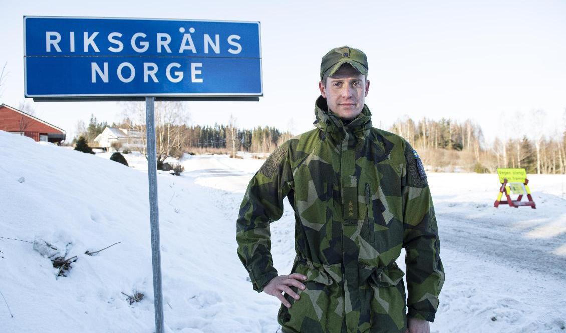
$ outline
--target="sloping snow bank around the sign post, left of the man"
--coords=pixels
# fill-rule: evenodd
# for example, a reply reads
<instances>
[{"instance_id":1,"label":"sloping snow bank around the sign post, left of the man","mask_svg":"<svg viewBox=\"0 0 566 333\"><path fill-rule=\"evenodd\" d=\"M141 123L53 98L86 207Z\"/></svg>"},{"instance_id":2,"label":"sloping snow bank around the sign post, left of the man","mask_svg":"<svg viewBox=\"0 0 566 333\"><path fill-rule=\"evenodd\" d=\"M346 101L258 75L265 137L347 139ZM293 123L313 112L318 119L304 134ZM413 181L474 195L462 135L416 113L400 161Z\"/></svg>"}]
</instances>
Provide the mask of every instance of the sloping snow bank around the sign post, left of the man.
<instances>
[{"instance_id":1,"label":"sloping snow bank around the sign post, left of the man","mask_svg":"<svg viewBox=\"0 0 566 333\"><path fill-rule=\"evenodd\" d=\"M0 292L14 315L0 301L0 331L153 332L147 173L3 131L0 161L0 237L70 244L68 257L78 256L56 279L32 244L0 238ZM242 274L222 197L164 172L158 190L166 331L252 332L263 322L275 331L273 310L257 314L277 300ZM134 291L145 297L129 305L122 292Z\"/></svg>"}]
</instances>

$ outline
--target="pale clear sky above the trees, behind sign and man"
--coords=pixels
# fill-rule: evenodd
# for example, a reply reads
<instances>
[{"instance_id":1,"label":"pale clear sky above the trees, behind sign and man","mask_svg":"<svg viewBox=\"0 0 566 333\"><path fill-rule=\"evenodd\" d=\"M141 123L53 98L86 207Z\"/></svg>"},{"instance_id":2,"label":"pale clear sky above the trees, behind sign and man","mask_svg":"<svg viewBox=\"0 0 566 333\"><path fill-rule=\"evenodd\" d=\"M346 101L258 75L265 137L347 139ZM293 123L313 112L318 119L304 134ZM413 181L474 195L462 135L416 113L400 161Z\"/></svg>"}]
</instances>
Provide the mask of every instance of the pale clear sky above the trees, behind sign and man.
<instances>
[{"instance_id":1,"label":"pale clear sky above the trees, behind sign and man","mask_svg":"<svg viewBox=\"0 0 566 333\"><path fill-rule=\"evenodd\" d=\"M320 59L349 45L369 62L366 104L375 127L409 116L473 119L491 141L517 112L530 134L564 130L566 1L12 1L0 0L0 103L24 100L23 16L109 16L261 23L264 97L259 102L186 102L191 125L314 128ZM91 113L121 119L114 102L40 102L36 116L74 136ZM540 126L540 125L539 125ZM529 128L530 127L530 128ZM518 134L516 130L506 133Z\"/></svg>"}]
</instances>

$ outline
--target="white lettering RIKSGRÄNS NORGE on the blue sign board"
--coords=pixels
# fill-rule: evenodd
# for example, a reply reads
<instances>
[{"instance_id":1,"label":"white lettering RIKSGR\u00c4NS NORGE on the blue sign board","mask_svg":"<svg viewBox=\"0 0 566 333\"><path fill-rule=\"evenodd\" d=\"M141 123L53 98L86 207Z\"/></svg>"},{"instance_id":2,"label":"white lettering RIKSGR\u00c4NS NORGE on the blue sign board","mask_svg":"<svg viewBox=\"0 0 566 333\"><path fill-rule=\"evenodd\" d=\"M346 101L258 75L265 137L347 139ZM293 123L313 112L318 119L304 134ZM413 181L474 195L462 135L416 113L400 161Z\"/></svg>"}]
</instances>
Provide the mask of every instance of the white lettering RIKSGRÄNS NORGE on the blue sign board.
<instances>
[{"instance_id":1,"label":"white lettering RIKSGR\u00c4NS NORGE on the blue sign board","mask_svg":"<svg viewBox=\"0 0 566 333\"><path fill-rule=\"evenodd\" d=\"M204 54L220 54L221 49L231 54L239 54L242 52L242 45L238 42L241 38L238 35L230 35L226 37L224 42L221 42L220 35L203 34L202 40L198 40L197 44L192 39L191 33L195 32L195 28L189 28L188 33L185 33L185 28L179 28L179 32L183 33L181 42L178 45L171 43L171 35L169 33L156 33L155 36L147 36L143 32L136 32L131 36L124 36L120 32L111 32L108 36L99 36L98 32L82 32L76 33L74 31L68 32L68 36L62 36L57 31L45 32L45 52L47 53L60 53L62 47L67 48L66 51L70 53L84 53L95 54L100 52L97 45L97 39L106 38L110 43L108 50L113 53L121 53L125 48L131 48L135 53L143 54L149 48L155 48L157 53L174 54L183 56L189 53L196 54L202 50ZM100 44L100 43L99 43ZM80 47L82 46L82 49ZM182 65L178 62L171 62L165 68L165 76L171 83L178 83L183 80L186 70L190 72L190 80L192 83L202 83L203 78L198 75L202 74L202 63L191 62L188 63L186 69L182 69ZM128 70L125 70L125 69ZM181 70L178 70L181 69ZM115 69L116 78L123 83L128 83L134 80L136 76L136 68L130 62L122 62ZM160 71L157 64L154 62L143 62L144 82L149 82L149 79L155 83L158 82L157 72ZM91 62L91 82L108 83L110 80L108 62Z\"/></svg>"}]
</instances>

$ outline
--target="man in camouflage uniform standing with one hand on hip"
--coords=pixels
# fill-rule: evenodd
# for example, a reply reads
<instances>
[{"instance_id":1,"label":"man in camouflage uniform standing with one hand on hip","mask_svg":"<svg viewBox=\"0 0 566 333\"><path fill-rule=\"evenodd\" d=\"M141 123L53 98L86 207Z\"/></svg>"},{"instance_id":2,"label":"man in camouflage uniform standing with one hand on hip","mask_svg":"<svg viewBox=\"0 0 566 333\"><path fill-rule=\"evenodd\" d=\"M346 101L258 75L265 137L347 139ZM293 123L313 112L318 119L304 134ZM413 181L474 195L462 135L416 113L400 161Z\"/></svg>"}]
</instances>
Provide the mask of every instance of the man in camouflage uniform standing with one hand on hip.
<instances>
[{"instance_id":1,"label":"man in camouflage uniform standing with one hand on hip","mask_svg":"<svg viewBox=\"0 0 566 333\"><path fill-rule=\"evenodd\" d=\"M238 257L254 289L281 300L283 332L428 332L438 309L444 271L426 174L405 139L371 126L367 70L348 46L323 57L316 129L271 153L240 206ZM285 197L297 256L278 276L269 224Z\"/></svg>"}]
</instances>

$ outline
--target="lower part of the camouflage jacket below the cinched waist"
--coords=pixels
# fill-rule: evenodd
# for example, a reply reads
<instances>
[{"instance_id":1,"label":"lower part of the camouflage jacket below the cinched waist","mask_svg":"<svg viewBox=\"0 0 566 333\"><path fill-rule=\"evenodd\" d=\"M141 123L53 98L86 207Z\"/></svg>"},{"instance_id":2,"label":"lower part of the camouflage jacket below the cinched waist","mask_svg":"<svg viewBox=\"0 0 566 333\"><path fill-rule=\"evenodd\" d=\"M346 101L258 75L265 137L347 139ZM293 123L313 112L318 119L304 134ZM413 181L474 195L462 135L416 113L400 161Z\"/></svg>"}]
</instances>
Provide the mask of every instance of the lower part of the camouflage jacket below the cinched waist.
<instances>
[{"instance_id":1,"label":"lower part of the camouflage jacket below the cinched waist","mask_svg":"<svg viewBox=\"0 0 566 333\"><path fill-rule=\"evenodd\" d=\"M393 262L380 270L359 265L356 274L338 264L318 264L297 257L292 273L307 276L305 290L288 294L277 321L283 333L404 333L404 273ZM354 281L353 281L354 280Z\"/></svg>"}]
</instances>

